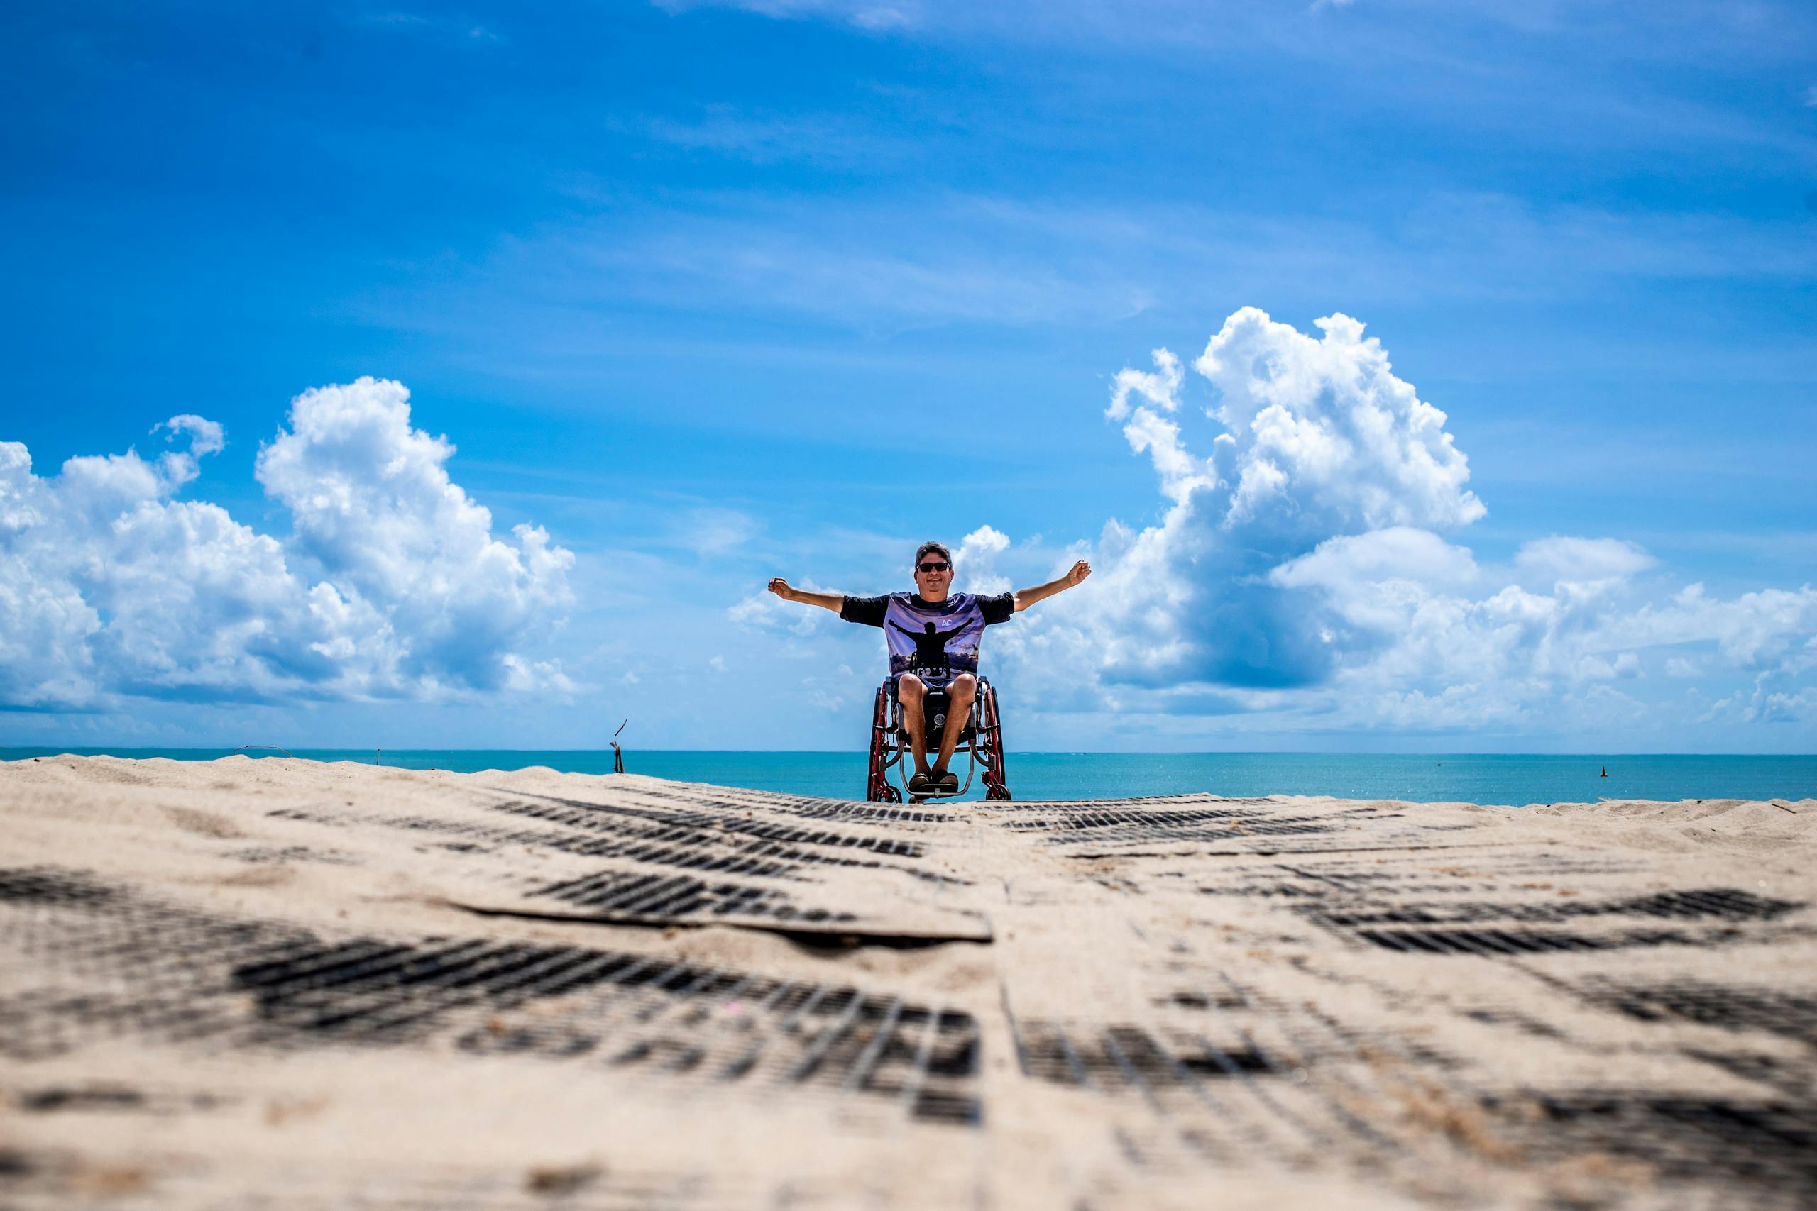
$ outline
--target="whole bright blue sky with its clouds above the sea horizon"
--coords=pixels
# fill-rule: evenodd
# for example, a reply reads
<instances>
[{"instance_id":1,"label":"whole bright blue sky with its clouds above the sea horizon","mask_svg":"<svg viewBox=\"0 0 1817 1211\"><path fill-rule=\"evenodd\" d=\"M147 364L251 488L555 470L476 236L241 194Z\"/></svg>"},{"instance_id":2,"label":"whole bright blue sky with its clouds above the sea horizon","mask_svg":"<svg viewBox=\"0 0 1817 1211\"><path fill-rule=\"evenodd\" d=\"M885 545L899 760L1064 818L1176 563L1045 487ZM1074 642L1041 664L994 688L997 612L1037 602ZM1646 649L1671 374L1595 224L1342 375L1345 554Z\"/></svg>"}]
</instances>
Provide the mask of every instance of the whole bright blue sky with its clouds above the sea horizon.
<instances>
[{"instance_id":1,"label":"whole bright blue sky with its clouds above the sea horizon","mask_svg":"<svg viewBox=\"0 0 1817 1211\"><path fill-rule=\"evenodd\" d=\"M752 596L972 536L1099 568L1014 748L1812 750L1808 5L65 5L0 91L0 741L850 748L881 641Z\"/></svg>"}]
</instances>

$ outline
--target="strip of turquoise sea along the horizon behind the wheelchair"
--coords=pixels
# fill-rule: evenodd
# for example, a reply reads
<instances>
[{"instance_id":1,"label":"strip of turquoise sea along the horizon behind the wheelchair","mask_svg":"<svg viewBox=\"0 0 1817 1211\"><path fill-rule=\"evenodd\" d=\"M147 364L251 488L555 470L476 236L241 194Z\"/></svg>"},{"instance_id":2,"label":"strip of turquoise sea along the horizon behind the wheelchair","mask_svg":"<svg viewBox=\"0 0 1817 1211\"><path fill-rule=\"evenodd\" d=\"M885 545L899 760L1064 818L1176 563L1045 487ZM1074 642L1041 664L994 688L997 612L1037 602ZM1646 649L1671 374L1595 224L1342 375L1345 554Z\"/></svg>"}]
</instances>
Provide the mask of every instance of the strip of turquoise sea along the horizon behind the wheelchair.
<instances>
[{"instance_id":1,"label":"strip of turquoise sea along the horizon behind the wheelchair","mask_svg":"<svg viewBox=\"0 0 1817 1211\"><path fill-rule=\"evenodd\" d=\"M20 761L58 752L213 761L225 748L0 748ZM247 750L249 757L282 757ZM298 748L311 761L360 761L411 770L521 770L609 773L612 753L591 750ZM1137 795L1337 795L1414 802L1595 802L1597 799L1817 799L1817 755L1515 755L1515 753L1010 753L1016 799L1128 799ZM629 752L630 773L798 795L863 799L865 755ZM963 761L956 766L965 777ZM1603 777L1603 772L1608 777ZM983 797L974 784L968 799Z\"/></svg>"}]
</instances>

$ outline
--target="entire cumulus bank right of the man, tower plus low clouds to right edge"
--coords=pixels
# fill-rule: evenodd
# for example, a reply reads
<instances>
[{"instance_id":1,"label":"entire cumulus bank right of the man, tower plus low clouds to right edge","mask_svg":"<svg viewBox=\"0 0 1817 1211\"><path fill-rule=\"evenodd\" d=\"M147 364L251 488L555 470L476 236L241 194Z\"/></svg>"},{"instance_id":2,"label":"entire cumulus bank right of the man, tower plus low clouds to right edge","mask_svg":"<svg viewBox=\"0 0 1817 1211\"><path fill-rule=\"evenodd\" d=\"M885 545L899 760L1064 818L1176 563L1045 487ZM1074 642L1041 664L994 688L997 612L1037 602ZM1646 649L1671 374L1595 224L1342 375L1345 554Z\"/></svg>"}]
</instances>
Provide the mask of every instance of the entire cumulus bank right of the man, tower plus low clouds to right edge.
<instances>
[{"instance_id":1,"label":"entire cumulus bank right of the man, tower plus low clouds to right edge","mask_svg":"<svg viewBox=\"0 0 1817 1211\"><path fill-rule=\"evenodd\" d=\"M1087 588L1005 628L1019 681L1074 708L1532 730L1639 723L1650 670L1726 672L1752 684L1712 715L1812 717L1817 590L1673 590L1613 537L1479 561L1454 537L1486 510L1445 412L1359 321L1317 329L1236 312L1192 363L1197 407L1165 349L1114 378L1107 416L1152 463L1161 514L1107 523Z\"/></svg>"}]
</instances>

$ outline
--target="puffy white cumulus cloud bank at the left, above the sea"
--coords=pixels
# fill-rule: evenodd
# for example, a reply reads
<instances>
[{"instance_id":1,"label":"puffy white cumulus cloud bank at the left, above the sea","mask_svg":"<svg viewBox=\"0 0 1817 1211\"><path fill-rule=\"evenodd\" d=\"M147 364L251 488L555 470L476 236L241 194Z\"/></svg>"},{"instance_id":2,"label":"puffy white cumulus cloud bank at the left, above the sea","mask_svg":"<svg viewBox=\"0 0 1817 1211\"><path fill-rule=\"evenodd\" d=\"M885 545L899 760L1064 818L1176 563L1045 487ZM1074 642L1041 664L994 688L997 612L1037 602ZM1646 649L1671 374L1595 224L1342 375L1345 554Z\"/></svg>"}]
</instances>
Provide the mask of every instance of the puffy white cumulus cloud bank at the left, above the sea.
<instances>
[{"instance_id":1,"label":"puffy white cumulus cloud bank at the left, above the sea","mask_svg":"<svg viewBox=\"0 0 1817 1211\"><path fill-rule=\"evenodd\" d=\"M173 445L156 459L80 456L55 476L0 443L0 703L572 688L520 650L565 612L572 556L538 527L494 537L400 383L293 399L256 472L289 512L282 539L176 499L223 448L218 423L153 432Z\"/></svg>"}]
</instances>

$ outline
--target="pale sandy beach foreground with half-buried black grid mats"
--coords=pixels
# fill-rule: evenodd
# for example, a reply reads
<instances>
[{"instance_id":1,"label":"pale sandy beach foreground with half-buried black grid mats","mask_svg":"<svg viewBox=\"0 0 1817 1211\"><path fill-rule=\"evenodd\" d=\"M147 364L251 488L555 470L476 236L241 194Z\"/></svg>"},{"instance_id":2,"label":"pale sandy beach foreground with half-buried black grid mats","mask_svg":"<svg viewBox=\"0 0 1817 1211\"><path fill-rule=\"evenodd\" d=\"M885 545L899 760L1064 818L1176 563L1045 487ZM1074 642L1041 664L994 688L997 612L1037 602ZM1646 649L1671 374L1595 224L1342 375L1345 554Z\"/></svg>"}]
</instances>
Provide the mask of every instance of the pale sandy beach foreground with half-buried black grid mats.
<instances>
[{"instance_id":1,"label":"pale sandy beach foreground with half-buried black grid mats","mask_svg":"<svg viewBox=\"0 0 1817 1211\"><path fill-rule=\"evenodd\" d=\"M1817 802L0 766L5 1207L1810 1207Z\"/></svg>"}]
</instances>

